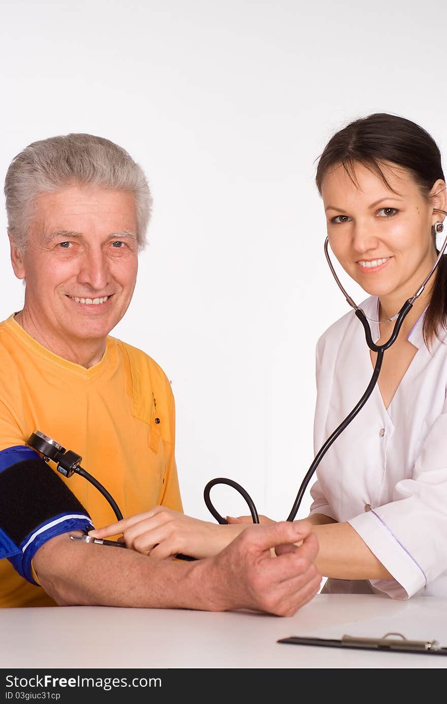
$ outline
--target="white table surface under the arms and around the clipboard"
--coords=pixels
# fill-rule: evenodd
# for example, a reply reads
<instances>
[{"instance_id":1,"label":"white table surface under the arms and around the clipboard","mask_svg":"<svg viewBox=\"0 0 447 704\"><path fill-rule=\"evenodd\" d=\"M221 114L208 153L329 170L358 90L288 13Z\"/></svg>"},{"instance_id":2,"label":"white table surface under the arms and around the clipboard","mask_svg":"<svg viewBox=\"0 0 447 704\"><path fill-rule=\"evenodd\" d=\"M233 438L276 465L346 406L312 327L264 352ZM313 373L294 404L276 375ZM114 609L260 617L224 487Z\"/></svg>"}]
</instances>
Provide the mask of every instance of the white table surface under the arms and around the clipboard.
<instances>
[{"instance_id":1,"label":"white table surface under the arms and around the clipboard","mask_svg":"<svg viewBox=\"0 0 447 704\"><path fill-rule=\"evenodd\" d=\"M0 609L2 668L446 668L447 657L277 643L292 635L447 646L447 600L317 594L294 616L96 606Z\"/></svg>"}]
</instances>

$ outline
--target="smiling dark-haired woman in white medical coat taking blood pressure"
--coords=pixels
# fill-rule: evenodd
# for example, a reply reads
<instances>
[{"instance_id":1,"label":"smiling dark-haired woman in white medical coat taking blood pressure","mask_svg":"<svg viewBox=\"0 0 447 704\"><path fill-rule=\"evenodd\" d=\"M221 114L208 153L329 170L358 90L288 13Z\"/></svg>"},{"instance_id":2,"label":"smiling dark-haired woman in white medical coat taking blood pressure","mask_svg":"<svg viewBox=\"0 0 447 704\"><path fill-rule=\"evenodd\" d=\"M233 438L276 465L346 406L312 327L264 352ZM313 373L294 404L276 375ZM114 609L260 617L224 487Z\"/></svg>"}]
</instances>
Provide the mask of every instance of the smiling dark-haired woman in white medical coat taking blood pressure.
<instances>
[{"instance_id":1,"label":"smiling dark-haired woman in white medical coat taking blood pressure","mask_svg":"<svg viewBox=\"0 0 447 704\"><path fill-rule=\"evenodd\" d=\"M351 122L329 140L316 176L332 253L368 297L372 339L386 342L394 315L436 260L446 210L441 156L422 127L395 115ZM441 236L442 237L442 236ZM447 596L447 257L384 353L378 384L316 471L308 521L320 543L326 592L405 599ZM317 342L314 445L358 403L375 354L353 310ZM93 532L166 558L220 551L251 517L219 525L156 507ZM270 519L260 517L261 522ZM284 548L282 548L284 550Z\"/></svg>"}]
</instances>

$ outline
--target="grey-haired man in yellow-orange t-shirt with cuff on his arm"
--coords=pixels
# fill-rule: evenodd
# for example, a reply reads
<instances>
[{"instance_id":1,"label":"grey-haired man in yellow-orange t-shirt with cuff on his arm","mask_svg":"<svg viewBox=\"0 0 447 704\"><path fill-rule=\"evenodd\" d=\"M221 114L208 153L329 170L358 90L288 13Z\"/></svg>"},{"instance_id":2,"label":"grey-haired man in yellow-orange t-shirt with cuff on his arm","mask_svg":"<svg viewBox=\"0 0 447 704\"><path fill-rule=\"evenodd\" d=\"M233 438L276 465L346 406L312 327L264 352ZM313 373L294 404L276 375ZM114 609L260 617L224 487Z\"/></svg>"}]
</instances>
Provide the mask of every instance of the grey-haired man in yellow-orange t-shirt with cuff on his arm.
<instances>
[{"instance_id":1,"label":"grey-haired man in yellow-orange t-shirt with cuff on his arm","mask_svg":"<svg viewBox=\"0 0 447 704\"><path fill-rule=\"evenodd\" d=\"M170 383L109 335L132 299L151 194L124 149L89 134L27 146L5 194L26 287L23 309L0 324L0 607L296 612L320 586L307 522L247 527L194 561L70 539L110 524L113 510L86 479L46 463L30 446L36 430L80 453L125 516L182 512Z\"/></svg>"}]
</instances>

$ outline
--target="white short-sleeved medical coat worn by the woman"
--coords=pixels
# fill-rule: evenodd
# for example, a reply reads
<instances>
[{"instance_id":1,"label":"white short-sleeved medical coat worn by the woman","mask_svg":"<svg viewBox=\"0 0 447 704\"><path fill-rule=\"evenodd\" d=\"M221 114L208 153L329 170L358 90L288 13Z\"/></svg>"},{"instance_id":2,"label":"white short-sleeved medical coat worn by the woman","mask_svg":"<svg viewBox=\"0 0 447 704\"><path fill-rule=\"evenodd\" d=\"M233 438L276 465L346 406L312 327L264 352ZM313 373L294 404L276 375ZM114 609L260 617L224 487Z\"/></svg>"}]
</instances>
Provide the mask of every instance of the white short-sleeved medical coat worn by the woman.
<instances>
[{"instance_id":1,"label":"white short-sleeved medical coat worn by the woman","mask_svg":"<svg viewBox=\"0 0 447 704\"><path fill-rule=\"evenodd\" d=\"M377 297L360 308L377 320ZM329 579L324 591L447 596L447 334L429 351L422 320L408 335L417 353L389 408L376 384L310 489L310 512L350 523L393 579ZM379 325L370 327L377 341ZM363 325L351 310L317 342L315 454L363 396L372 371Z\"/></svg>"}]
</instances>

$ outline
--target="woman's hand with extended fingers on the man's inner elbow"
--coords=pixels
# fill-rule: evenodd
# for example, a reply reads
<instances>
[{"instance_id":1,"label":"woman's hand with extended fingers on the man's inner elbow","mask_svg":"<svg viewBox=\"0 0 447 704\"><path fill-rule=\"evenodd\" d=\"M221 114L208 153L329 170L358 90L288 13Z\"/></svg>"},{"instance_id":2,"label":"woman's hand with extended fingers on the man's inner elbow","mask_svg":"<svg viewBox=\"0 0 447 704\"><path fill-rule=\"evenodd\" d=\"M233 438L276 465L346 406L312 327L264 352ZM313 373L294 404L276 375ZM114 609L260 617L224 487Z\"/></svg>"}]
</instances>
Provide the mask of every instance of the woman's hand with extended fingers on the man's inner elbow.
<instances>
[{"instance_id":1,"label":"woman's hand with extended fingers on the man's inner elbow","mask_svg":"<svg viewBox=\"0 0 447 704\"><path fill-rule=\"evenodd\" d=\"M192 558L208 558L225 548L246 525L222 526L185 516L164 506L137 513L108 526L92 530L94 538L109 538L122 533L127 548L168 558L177 553Z\"/></svg>"}]
</instances>

